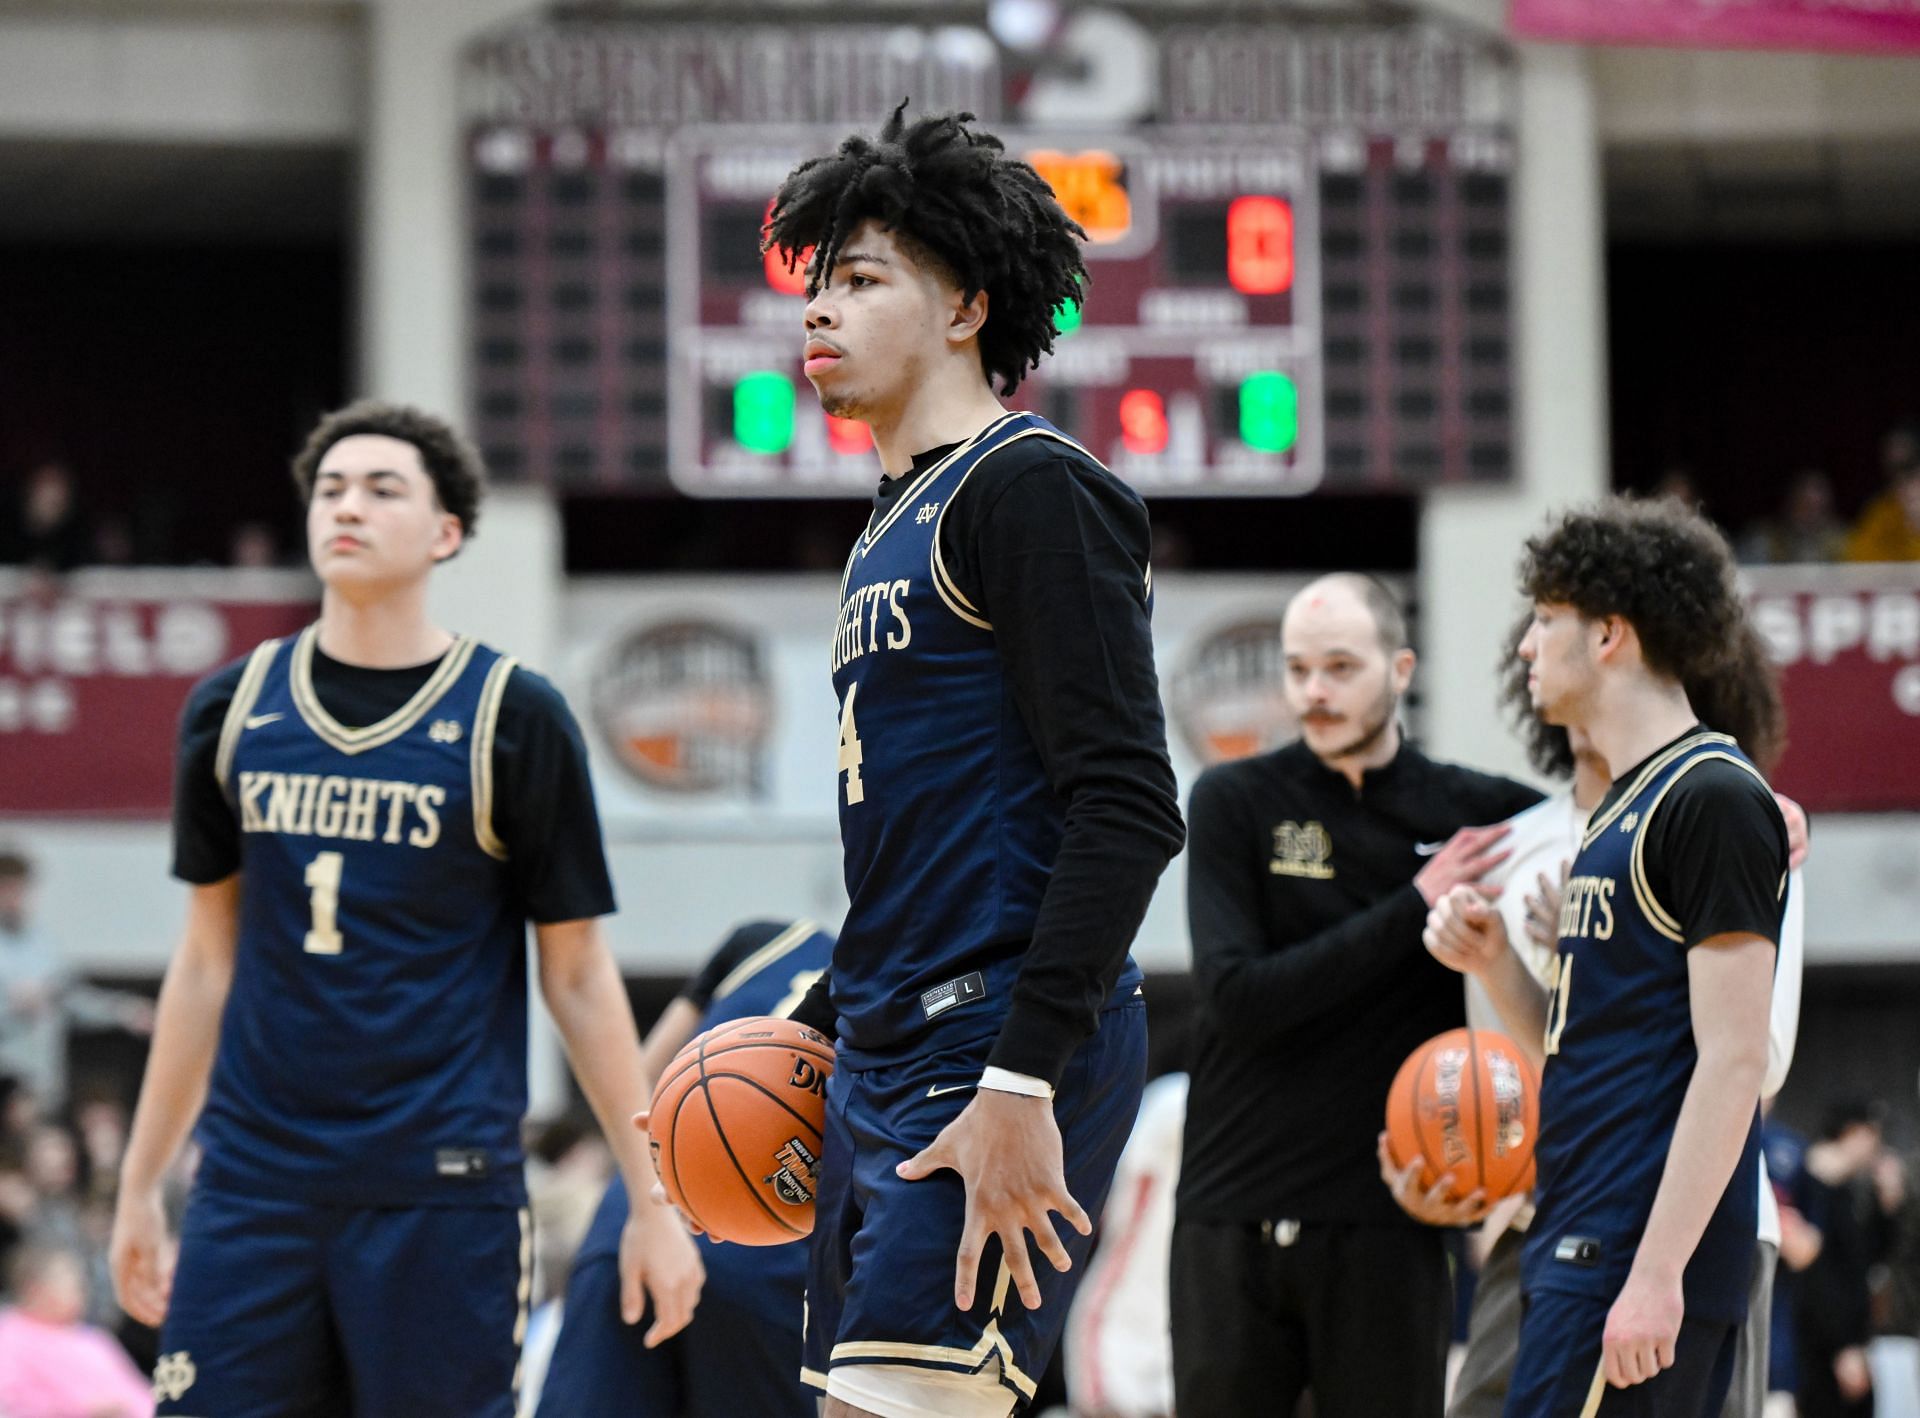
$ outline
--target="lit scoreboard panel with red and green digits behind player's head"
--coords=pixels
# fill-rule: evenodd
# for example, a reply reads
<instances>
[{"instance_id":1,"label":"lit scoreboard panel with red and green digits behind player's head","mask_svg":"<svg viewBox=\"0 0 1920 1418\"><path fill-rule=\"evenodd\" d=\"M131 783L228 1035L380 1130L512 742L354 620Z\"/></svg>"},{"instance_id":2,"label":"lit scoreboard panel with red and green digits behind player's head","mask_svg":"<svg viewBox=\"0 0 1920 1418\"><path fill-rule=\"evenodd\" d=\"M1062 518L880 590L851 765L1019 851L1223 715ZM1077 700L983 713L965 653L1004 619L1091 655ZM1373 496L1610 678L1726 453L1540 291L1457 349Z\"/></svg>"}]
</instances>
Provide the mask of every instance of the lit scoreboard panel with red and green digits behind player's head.
<instances>
[{"instance_id":1,"label":"lit scoreboard panel with red and green digits behind player's head","mask_svg":"<svg viewBox=\"0 0 1920 1418\"><path fill-rule=\"evenodd\" d=\"M1087 228L1089 284L1014 403L1144 489L1306 491L1321 474L1313 186L1298 144L1002 132ZM670 466L695 493L866 491L866 428L799 370L803 272L758 251L833 132L695 134L668 184ZM989 315L991 319L991 315Z\"/></svg>"}]
</instances>

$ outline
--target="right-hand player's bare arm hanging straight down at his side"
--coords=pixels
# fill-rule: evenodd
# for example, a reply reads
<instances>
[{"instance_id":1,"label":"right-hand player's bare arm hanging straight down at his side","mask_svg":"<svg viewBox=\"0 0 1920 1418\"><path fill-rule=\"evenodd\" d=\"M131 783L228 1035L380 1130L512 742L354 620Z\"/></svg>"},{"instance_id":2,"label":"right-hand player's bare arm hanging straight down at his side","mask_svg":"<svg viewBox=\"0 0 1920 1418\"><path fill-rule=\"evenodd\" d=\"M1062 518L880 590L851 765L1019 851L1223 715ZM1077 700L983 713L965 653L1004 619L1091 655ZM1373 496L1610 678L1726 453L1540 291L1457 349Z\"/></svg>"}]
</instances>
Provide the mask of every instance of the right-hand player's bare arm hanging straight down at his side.
<instances>
[{"instance_id":1,"label":"right-hand player's bare arm hanging straight down at his side","mask_svg":"<svg viewBox=\"0 0 1920 1418\"><path fill-rule=\"evenodd\" d=\"M1634 1268L1607 1312L1603 1372L1615 1387L1644 1383L1674 1362L1684 1318L1680 1282L1740 1163L1761 1098L1772 981L1772 940L1722 934L1688 952L1699 1061Z\"/></svg>"}]
</instances>

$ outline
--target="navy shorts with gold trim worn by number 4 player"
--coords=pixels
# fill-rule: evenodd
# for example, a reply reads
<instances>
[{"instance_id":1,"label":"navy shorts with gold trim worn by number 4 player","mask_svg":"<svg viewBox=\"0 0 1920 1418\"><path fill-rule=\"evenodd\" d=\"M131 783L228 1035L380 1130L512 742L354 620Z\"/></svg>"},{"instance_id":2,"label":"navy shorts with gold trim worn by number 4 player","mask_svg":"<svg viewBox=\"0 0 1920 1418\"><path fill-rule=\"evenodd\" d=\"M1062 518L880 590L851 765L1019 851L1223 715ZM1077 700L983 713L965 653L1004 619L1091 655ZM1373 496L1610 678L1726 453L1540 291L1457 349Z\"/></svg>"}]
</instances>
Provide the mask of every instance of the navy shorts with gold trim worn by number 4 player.
<instances>
[{"instance_id":1,"label":"navy shorts with gold trim worn by number 4 player","mask_svg":"<svg viewBox=\"0 0 1920 1418\"><path fill-rule=\"evenodd\" d=\"M954 1307L954 1255L966 1218L956 1172L902 1182L895 1167L960 1117L993 1038L879 1069L839 1069L828 1084L828 1124L806 1272L806 1368L826 1389L841 1364L902 1364L975 1374L996 1364L1016 1408L1060 1343L1092 1238L1058 1215L1073 1268L1054 1270L1029 1241L1041 1309L1014 1289L1000 1243L989 1240L973 1309ZM1100 1028L1054 1090L1068 1192L1098 1217L1146 1086L1146 1005L1100 1015Z\"/></svg>"}]
</instances>

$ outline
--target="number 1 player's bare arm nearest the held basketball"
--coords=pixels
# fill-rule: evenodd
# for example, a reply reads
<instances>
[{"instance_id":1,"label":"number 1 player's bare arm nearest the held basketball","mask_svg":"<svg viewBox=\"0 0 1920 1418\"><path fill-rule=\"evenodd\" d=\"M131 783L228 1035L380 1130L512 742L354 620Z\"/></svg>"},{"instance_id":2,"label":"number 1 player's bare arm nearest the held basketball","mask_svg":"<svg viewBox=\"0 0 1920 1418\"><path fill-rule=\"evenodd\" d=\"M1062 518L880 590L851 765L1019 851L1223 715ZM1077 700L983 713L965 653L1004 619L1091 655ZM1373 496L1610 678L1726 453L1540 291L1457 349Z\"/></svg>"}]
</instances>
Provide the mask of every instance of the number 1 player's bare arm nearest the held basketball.
<instances>
[{"instance_id":1,"label":"number 1 player's bare arm nearest the held basketball","mask_svg":"<svg viewBox=\"0 0 1920 1418\"><path fill-rule=\"evenodd\" d=\"M693 1318L707 1270L678 1213L657 1207L647 1136L630 1119L647 1103L647 1073L634 1011L620 971L597 921L557 921L536 927L540 992L553 1011L593 1117L599 1119L626 1178L634 1213L620 1236L620 1314L641 1316L641 1291L653 1299L647 1345L678 1334Z\"/></svg>"}]
</instances>

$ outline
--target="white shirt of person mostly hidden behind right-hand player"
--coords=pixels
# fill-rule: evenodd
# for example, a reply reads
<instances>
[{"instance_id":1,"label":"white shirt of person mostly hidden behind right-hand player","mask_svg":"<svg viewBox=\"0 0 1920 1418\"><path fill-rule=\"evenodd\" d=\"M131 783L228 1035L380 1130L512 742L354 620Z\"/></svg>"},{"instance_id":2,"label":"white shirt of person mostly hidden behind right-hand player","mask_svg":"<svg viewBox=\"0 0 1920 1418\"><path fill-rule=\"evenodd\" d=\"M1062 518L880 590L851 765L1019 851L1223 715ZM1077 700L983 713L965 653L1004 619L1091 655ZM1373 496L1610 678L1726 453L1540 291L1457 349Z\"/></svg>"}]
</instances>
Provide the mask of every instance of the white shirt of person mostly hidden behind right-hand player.
<instances>
[{"instance_id":1,"label":"white shirt of person mostly hidden behind right-hand player","mask_svg":"<svg viewBox=\"0 0 1920 1418\"><path fill-rule=\"evenodd\" d=\"M1507 860L1482 877L1482 885L1500 886L1500 919L1507 927L1507 940L1513 942L1521 963L1542 986L1548 981L1548 967L1553 963L1551 946L1536 946L1526 934L1526 898L1540 890L1540 877L1557 883L1561 867L1574 860L1580 850L1580 835L1586 831L1588 812L1574 806L1572 789L1561 789L1549 798L1536 802L1526 812L1517 812L1507 819L1511 835L1503 848ZM1780 919L1780 954L1774 965L1774 1002L1766 1019L1766 1076L1761 1082L1761 1098L1772 1098L1788 1080L1788 1067L1793 1063L1793 1042L1799 1034L1799 994L1801 967L1805 963L1805 925L1807 896L1801 888L1801 873L1788 875L1788 906ZM1494 1002L1476 979L1467 977L1467 1023L1473 1028L1492 1028L1505 1032ZM1766 1155L1761 1153L1761 1230L1763 1241L1780 1245L1780 1205L1774 1201L1772 1182L1766 1178Z\"/></svg>"}]
</instances>

